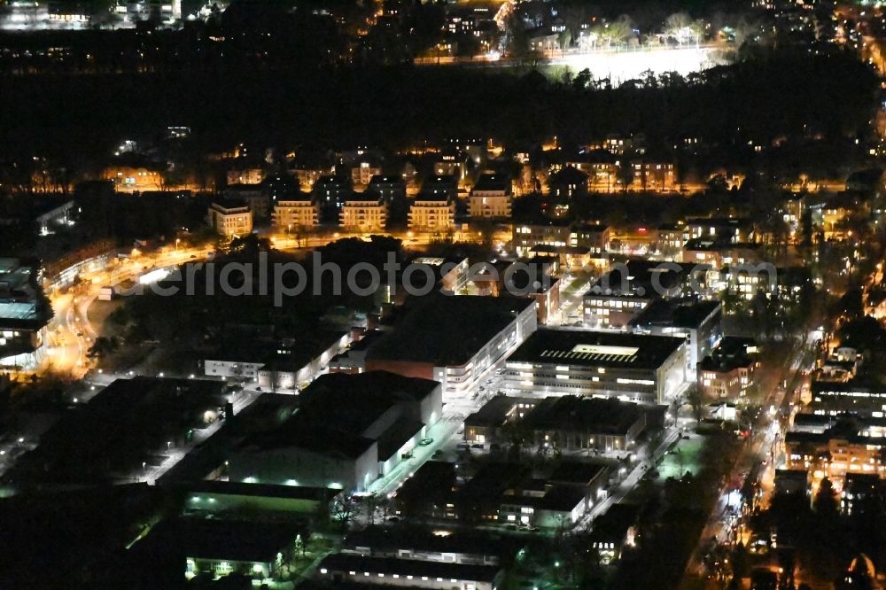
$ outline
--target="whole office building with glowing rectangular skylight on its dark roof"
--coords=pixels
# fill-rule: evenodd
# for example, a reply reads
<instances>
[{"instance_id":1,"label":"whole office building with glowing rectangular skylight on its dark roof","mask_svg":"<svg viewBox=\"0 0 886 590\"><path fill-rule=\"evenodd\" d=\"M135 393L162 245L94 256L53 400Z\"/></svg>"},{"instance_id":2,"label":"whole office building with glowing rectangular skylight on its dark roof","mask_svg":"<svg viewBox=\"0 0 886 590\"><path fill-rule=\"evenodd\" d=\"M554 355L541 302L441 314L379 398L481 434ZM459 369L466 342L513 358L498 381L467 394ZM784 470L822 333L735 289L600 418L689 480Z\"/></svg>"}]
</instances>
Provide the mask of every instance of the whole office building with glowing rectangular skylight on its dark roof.
<instances>
[{"instance_id":1,"label":"whole office building with glowing rectangular skylight on its dark roof","mask_svg":"<svg viewBox=\"0 0 886 590\"><path fill-rule=\"evenodd\" d=\"M683 338L538 330L506 364L509 390L666 404L687 381Z\"/></svg>"}]
</instances>

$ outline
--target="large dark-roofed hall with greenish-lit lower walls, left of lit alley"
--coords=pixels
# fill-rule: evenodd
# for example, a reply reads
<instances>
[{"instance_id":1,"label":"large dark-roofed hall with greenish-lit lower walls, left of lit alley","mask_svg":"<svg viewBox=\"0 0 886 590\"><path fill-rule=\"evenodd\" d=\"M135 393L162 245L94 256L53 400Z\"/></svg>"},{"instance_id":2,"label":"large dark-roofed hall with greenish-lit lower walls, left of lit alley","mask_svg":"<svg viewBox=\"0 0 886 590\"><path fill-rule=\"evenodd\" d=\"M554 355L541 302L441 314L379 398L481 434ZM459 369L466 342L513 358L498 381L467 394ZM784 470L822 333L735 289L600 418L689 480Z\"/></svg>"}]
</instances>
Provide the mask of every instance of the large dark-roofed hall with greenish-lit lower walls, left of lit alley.
<instances>
[{"instance_id":1,"label":"large dark-roofed hall with greenish-lit lower walls, left of lit alley","mask_svg":"<svg viewBox=\"0 0 886 590\"><path fill-rule=\"evenodd\" d=\"M278 428L245 439L229 459L232 480L364 492L443 415L439 383L385 371L323 375L299 402Z\"/></svg>"}]
</instances>

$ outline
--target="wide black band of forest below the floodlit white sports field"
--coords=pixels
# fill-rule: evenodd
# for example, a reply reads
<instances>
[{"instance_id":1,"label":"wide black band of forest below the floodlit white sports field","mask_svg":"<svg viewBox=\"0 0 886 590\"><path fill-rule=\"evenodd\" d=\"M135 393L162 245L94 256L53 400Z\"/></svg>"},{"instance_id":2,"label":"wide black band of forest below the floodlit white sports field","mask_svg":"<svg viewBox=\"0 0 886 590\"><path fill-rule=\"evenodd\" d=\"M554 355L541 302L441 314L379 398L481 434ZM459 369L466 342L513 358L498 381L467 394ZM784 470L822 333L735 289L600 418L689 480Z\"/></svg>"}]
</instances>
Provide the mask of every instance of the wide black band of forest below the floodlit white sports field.
<instances>
[{"instance_id":1,"label":"wide black band of forest below the floodlit white sports field","mask_svg":"<svg viewBox=\"0 0 886 590\"><path fill-rule=\"evenodd\" d=\"M3 83L0 150L104 155L122 136L171 124L193 128L194 151L237 142L396 149L462 134L519 147L608 133L728 149L865 134L875 97L874 74L855 58L788 51L618 88L587 75L415 66L35 75Z\"/></svg>"}]
</instances>

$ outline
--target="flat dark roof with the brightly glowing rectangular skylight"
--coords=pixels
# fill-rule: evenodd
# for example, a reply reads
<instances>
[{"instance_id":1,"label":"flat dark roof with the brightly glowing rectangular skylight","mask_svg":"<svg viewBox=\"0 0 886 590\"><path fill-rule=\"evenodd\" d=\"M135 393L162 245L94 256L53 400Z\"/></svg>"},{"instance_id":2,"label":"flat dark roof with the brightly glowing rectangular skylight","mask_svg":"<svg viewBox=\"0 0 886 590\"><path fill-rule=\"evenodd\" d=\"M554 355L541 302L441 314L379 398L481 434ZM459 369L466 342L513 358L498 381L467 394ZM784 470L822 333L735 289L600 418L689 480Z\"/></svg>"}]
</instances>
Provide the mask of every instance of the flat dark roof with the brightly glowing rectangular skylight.
<instances>
[{"instance_id":1,"label":"flat dark roof with the brightly glowing rectangular skylight","mask_svg":"<svg viewBox=\"0 0 886 590\"><path fill-rule=\"evenodd\" d=\"M683 338L585 330L536 330L508 362L658 369Z\"/></svg>"}]
</instances>

